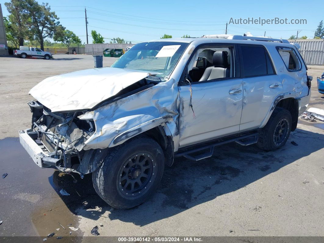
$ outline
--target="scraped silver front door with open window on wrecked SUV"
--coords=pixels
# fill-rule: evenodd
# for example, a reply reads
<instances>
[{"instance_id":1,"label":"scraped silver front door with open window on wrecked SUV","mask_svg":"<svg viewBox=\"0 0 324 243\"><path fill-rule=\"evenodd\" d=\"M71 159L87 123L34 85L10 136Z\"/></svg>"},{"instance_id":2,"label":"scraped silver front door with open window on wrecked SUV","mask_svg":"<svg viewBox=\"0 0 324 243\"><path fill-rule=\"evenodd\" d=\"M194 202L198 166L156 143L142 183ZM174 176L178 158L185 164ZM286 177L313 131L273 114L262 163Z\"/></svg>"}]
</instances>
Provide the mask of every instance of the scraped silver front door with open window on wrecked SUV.
<instances>
[{"instance_id":1,"label":"scraped silver front door with open window on wrecked SUV","mask_svg":"<svg viewBox=\"0 0 324 243\"><path fill-rule=\"evenodd\" d=\"M193 58L196 60L203 58L207 67L205 73L202 77L191 79L190 83L183 83L178 87L180 93L179 147L239 132L243 83L242 79L235 78L234 47L202 49L199 49L197 51L199 54L194 55ZM223 62L219 60L221 56ZM226 56L228 59L224 58ZM190 67L188 69L190 70Z\"/></svg>"}]
</instances>

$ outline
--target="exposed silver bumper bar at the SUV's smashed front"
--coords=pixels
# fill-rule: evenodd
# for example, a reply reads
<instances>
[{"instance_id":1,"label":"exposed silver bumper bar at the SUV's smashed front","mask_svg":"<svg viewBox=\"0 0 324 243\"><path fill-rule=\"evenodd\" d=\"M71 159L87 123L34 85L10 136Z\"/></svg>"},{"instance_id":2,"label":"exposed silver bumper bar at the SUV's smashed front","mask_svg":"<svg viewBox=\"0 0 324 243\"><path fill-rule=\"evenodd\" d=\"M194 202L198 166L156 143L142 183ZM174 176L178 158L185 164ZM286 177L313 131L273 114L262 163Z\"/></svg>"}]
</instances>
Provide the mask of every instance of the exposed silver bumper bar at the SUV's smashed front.
<instances>
[{"instance_id":1,"label":"exposed silver bumper bar at the SUV's smashed front","mask_svg":"<svg viewBox=\"0 0 324 243\"><path fill-rule=\"evenodd\" d=\"M44 146L36 143L37 134L32 129L19 130L19 141L35 164L41 168L48 168L50 165L44 164L43 159L49 154L44 151Z\"/></svg>"}]
</instances>

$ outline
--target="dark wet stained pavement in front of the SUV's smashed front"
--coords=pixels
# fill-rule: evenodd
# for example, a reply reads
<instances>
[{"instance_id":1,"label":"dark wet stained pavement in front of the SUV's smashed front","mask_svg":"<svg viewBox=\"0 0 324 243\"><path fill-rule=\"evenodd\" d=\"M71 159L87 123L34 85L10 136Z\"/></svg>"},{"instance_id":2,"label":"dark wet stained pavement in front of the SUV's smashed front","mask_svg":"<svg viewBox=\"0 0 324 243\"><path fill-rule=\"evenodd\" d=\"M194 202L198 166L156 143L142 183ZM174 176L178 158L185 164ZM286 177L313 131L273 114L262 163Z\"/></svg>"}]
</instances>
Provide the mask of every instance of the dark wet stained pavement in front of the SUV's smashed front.
<instances>
[{"instance_id":1,"label":"dark wet stained pavement in front of the SUV's smashed front","mask_svg":"<svg viewBox=\"0 0 324 243\"><path fill-rule=\"evenodd\" d=\"M77 241L77 236L82 235L81 230L69 229L78 228L75 209L81 205L91 207L88 198L102 201L92 187L91 176L81 179L74 175L77 179L74 183L73 177L68 174L39 168L18 138L0 140L0 154L1 175L8 174L0 178L0 221L3 221L0 237L37 236L42 241L54 232L55 235L47 240L62 236L64 238L60 242L64 239ZM62 196L59 193L62 188L70 196Z\"/></svg>"}]
</instances>

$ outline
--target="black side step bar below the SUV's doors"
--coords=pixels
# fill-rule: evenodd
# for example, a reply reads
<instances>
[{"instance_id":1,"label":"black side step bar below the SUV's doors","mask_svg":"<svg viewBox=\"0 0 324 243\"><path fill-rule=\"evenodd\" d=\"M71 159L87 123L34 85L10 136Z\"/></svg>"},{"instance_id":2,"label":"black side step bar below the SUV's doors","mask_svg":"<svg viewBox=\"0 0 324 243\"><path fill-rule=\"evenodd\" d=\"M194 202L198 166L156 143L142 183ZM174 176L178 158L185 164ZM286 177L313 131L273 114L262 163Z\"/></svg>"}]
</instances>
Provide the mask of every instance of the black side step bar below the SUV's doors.
<instances>
[{"instance_id":1,"label":"black side step bar below the SUV's doors","mask_svg":"<svg viewBox=\"0 0 324 243\"><path fill-rule=\"evenodd\" d=\"M183 156L183 157L185 157L185 158L187 158L189 160L192 160L192 161L203 160L203 159L212 157L212 155L214 153L214 147L216 147L216 146L220 146L220 145L230 143L230 142L237 142L240 145L248 146L248 145L251 145L251 144L256 143L258 141L258 135L259 135L259 133L255 132L255 133L240 136L240 137L237 137L237 138L228 139L226 141L221 141L221 142L217 142L217 143L214 143L214 144L206 145L206 146L203 146L203 147L200 147L200 148L197 148L197 149L192 149L192 150L188 150L188 151L185 151L185 152L177 153L177 154L175 154L174 157ZM201 150L204 150L204 149L210 149L210 151L206 152L206 153L203 153L203 154L200 154L200 155L196 155L196 156L189 155L191 153L198 152L198 151L201 151Z\"/></svg>"}]
</instances>

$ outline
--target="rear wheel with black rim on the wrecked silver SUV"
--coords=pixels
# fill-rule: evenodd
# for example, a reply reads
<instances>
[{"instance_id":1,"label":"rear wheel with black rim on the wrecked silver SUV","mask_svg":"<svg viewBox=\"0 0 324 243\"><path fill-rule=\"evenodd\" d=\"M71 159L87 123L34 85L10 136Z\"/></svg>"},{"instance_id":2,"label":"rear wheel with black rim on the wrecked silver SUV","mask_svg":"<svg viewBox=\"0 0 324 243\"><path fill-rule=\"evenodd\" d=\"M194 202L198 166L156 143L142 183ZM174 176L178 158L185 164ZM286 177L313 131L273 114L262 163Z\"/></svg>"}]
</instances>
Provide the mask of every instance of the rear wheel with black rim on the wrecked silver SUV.
<instances>
[{"instance_id":1,"label":"rear wheel with black rim on the wrecked silver SUV","mask_svg":"<svg viewBox=\"0 0 324 243\"><path fill-rule=\"evenodd\" d=\"M288 110L276 107L267 124L259 132L257 146L271 151L284 146L292 127L292 118Z\"/></svg>"}]
</instances>

